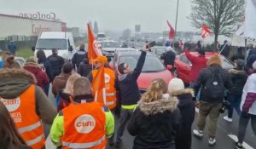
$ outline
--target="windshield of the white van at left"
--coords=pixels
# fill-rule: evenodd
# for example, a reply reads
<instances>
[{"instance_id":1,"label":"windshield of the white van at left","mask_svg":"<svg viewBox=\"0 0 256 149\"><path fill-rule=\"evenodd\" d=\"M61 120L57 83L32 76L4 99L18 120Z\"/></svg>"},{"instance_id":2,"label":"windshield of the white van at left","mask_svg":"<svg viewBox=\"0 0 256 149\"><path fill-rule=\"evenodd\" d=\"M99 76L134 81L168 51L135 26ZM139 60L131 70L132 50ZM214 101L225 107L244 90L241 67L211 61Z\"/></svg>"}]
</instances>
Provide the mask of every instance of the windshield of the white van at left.
<instances>
[{"instance_id":1,"label":"windshield of the white van at left","mask_svg":"<svg viewBox=\"0 0 256 149\"><path fill-rule=\"evenodd\" d=\"M67 49L66 39L38 39L36 49Z\"/></svg>"}]
</instances>

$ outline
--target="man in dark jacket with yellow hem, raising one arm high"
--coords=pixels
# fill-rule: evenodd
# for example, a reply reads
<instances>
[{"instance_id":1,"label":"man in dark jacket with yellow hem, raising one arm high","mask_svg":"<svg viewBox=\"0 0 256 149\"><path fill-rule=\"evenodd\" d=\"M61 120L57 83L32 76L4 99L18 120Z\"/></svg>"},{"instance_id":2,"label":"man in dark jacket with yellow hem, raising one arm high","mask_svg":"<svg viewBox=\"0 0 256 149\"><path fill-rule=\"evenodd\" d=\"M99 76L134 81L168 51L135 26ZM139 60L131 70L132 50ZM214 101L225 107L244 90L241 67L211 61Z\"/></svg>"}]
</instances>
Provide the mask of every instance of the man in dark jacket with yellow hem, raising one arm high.
<instances>
[{"instance_id":1,"label":"man in dark jacket with yellow hem, raising one arm high","mask_svg":"<svg viewBox=\"0 0 256 149\"><path fill-rule=\"evenodd\" d=\"M121 113L115 142L116 147L120 146L122 136L125 131L125 125L129 121L134 109L137 107L137 101L141 98L141 94L137 86L137 78L143 70L143 65L147 54L146 51L149 49L150 47L148 44L143 47L143 51L137 60L137 66L133 72L127 63L121 63L118 66L118 72L120 74L118 77L118 86L121 95Z\"/></svg>"}]
</instances>

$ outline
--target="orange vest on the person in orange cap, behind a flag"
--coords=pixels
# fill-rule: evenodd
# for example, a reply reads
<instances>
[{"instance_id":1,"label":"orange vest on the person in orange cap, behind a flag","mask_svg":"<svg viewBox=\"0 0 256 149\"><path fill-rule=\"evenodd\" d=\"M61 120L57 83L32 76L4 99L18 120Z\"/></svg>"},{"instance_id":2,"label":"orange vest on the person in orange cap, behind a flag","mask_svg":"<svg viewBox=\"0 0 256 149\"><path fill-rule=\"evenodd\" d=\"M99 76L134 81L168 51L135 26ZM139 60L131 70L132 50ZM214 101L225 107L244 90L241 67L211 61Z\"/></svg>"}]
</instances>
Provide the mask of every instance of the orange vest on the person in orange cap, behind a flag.
<instances>
[{"instance_id":1,"label":"orange vest on the person in orange cap, behind a flag","mask_svg":"<svg viewBox=\"0 0 256 149\"><path fill-rule=\"evenodd\" d=\"M98 70L92 71L92 77L96 77ZM106 106L108 109L113 109L116 106L116 89L114 88L115 75L113 70L109 68L104 68L105 76L105 89L106 89ZM98 102L104 103L102 100L97 100Z\"/></svg>"}]
</instances>

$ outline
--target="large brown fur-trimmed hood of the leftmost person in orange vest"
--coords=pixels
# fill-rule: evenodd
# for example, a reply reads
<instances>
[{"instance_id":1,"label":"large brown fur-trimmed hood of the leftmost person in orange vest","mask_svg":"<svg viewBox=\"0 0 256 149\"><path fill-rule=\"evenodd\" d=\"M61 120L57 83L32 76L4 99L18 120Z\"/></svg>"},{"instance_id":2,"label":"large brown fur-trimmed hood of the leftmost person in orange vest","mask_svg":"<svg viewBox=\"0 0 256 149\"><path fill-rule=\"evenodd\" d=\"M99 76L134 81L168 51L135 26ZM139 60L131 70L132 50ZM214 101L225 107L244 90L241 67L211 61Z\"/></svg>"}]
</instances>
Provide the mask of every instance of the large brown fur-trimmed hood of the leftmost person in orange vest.
<instances>
[{"instance_id":1,"label":"large brown fur-trimmed hood of the leftmost person in orange vest","mask_svg":"<svg viewBox=\"0 0 256 149\"><path fill-rule=\"evenodd\" d=\"M0 69L0 96L14 99L36 82L34 75L26 70Z\"/></svg>"}]
</instances>

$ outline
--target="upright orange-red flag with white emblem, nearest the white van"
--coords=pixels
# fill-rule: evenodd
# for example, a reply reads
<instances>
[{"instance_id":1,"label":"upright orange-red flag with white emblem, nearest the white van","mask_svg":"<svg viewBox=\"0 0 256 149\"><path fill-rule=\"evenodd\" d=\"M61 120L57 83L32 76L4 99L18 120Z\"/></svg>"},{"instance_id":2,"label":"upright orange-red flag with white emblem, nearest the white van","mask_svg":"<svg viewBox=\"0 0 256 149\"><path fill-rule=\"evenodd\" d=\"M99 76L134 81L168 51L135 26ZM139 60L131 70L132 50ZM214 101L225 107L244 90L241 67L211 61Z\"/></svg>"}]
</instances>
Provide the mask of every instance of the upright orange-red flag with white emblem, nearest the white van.
<instances>
[{"instance_id":1,"label":"upright orange-red flag with white emblem, nearest the white van","mask_svg":"<svg viewBox=\"0 0 256 149\"><path fill-rule=\"evenodd\" d=\"M102 55L102 51L99 49L96 39L93 35L93 32L90 29L89 24L88 28L88 59L91 63L91 60L96 59L97 56Z\"/></svg>"}]
</instances>

